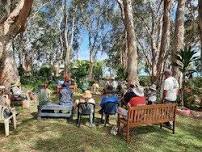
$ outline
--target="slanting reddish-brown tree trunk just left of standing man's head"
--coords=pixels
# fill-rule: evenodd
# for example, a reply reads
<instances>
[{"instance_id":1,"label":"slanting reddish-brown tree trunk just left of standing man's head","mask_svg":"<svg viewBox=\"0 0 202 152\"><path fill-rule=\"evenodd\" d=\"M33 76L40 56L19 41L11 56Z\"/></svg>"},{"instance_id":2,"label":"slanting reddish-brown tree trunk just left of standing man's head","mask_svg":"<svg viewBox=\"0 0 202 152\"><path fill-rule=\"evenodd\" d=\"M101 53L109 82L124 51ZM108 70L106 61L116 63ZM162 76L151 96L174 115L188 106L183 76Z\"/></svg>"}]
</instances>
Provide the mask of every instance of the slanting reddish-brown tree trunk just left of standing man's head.
<instances>
[{"instance_id":1,"label":"slanting reddish-brown tree trunk just left of standing man's head","mask_svg":"<svg viewBox=\"0 0 202 152\"><path fill-rule=\"evenodd\" d=\"M164 0L164 12L163 12L163 25L162 25L162 35L161 35L161 45L160 52L157 62L157 85L160 86L160 77L163 69L163 62L165 53L168 49L170 41L170 9L171 9L171 0Z\"/></svg>"}]
</instances>

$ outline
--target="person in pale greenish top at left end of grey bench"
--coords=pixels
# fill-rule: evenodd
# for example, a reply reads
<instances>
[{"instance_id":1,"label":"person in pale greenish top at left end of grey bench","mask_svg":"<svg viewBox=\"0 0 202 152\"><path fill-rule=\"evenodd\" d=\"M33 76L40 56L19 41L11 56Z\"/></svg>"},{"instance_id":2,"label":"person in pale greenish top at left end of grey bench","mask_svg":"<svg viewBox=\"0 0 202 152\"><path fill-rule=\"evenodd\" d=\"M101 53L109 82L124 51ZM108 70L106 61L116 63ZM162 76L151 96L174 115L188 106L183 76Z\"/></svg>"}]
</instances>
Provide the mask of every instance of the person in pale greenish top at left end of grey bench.
<instances>
[{"instance_id":1,"label":"person in pale greenish top at left end of grey bench","mask_svg":"<svg viewBox=\"0 0 202 152\"><path fill-rule=\"evenodd\" d=\"M49 102L50 90L48 89L48 84L42 85L38 95L39 106L46 105Z\"/></svg>"}]
</instances>

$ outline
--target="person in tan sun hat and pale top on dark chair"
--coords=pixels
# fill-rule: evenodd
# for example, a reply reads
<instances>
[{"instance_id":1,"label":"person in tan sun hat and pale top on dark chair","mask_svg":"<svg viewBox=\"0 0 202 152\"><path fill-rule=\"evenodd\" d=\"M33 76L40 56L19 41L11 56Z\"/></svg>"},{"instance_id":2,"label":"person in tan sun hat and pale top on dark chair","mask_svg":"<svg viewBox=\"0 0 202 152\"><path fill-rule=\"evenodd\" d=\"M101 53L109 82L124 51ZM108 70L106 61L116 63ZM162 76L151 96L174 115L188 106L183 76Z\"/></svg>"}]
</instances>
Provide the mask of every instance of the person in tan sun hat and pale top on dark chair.
<instances>
[{"instance_id":1,"label":"person in tan sun hat and pale top on dark chair","mask_svg":"<svg viewBox=\"0 0 202 152\"><path fill-rule=\"evenodd\" d=\"M86 90L82 94L81 98L77 99L75 101L75 107L77 107L77 105L79 103L93 103L93 104L95 104L95 100L92 98L92 94L91 94L91 92L89 90ZM90 109L90 126L94 126L94 124L93 124L94 106L93 105L89 105L88 108ZM86 109L84 109L84 107L81 106L80 109L78 109L78 110L79 110L80 113L82 113Z\"/></svg>"}]
</instances>

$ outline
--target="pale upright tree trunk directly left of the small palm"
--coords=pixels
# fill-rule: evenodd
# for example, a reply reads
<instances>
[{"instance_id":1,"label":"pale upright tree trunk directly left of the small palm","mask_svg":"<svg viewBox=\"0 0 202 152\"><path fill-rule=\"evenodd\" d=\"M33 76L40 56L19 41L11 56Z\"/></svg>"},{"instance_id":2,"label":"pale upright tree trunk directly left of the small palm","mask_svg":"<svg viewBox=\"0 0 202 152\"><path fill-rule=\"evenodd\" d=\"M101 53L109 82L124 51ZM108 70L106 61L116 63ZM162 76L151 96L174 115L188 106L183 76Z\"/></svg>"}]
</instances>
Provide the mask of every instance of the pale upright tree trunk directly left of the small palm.
<instances>
[{"instance_id":1,"label":"pale upright tree trunk directly left of the small palm","mask_svg":"<svg viewBox=\"0 0 202 152\"><path fill-rule=\"evenodd\" d=\"M172 48L172 63L176 63L176 54L184 48L184 11L185 11L185 0L178 0L176 21L175 21L175 41L174 47ZM179 80L180 71L178 67L173 66L173 74Z\"/></svg>"}]
</instances>

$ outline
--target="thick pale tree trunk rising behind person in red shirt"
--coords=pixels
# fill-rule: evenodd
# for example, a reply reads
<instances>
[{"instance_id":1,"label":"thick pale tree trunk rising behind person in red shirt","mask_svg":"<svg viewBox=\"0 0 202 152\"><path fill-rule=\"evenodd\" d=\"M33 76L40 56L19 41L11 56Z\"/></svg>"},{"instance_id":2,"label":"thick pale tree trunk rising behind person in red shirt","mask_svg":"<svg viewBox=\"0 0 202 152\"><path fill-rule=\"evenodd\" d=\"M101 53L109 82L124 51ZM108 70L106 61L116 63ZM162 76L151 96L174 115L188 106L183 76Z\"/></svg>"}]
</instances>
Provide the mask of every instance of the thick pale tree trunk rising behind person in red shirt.
<instances>
[{"instance_id":1,"label":"thick pale tree trunk rising behind person in red shirt","mask_svg":"<svg viewBox=\"0 0 202 152\"><path fill-rule=\"evenodd\" d=\"M127 79L129 81L137 81L137 68L138 68L138 57L137 57L137 44L136 35L134 31L133 22L133 9L131 0L123 0L124 15L125 15L125 29L127 32L127 47L128 47L128 62L127 62Z\"/></svg>"}]
</instances>

